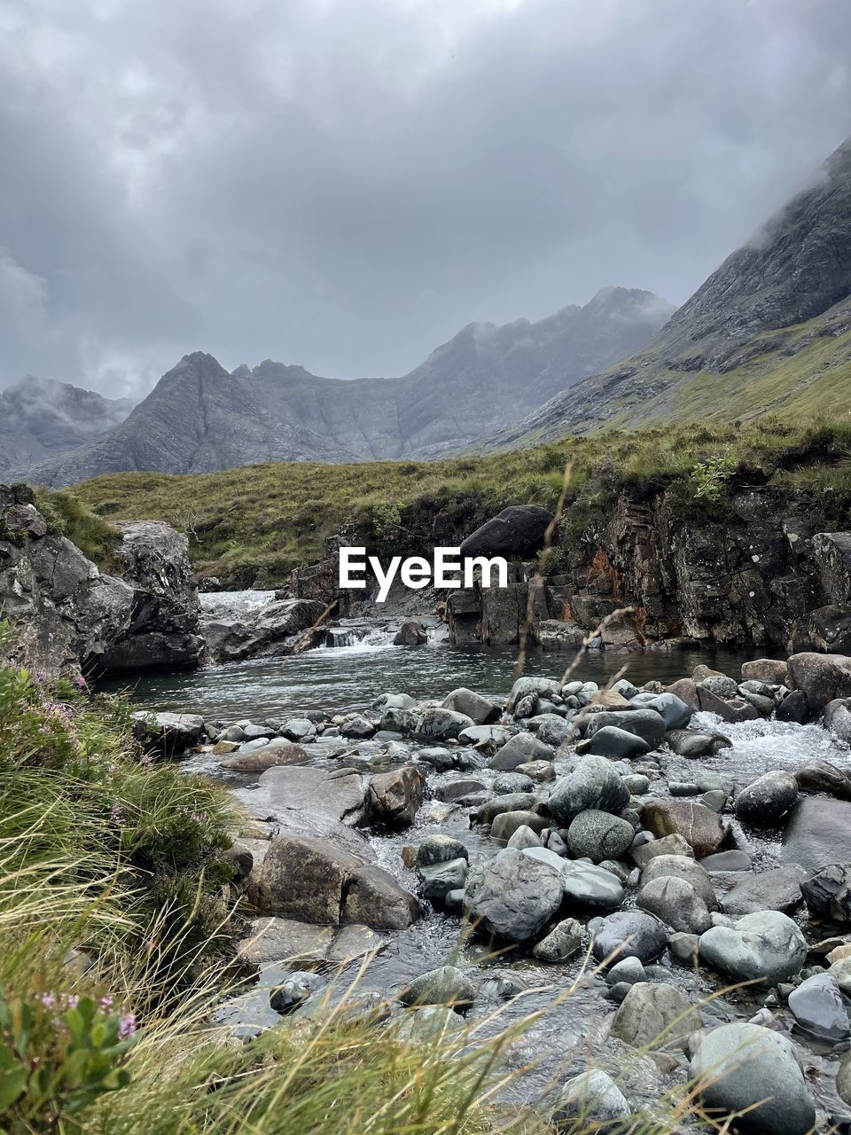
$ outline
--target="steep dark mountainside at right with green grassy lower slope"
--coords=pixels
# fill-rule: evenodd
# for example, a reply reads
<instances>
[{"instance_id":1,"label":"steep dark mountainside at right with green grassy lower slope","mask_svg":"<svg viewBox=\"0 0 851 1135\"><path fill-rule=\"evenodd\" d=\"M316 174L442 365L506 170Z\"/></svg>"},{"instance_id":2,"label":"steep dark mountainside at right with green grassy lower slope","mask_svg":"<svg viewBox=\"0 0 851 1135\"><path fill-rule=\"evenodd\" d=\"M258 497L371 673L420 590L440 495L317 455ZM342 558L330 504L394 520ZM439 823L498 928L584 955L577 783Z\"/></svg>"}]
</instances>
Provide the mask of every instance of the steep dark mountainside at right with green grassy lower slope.
<instances>
[{"instance_id":1,"label":"steep dark mountainside at right with green grassy lower slope","mask_svg":"<svg viewBox=\"0 0 851 1135\"><path fill-rule=\"evenodd\" d=\"M851 412L851 138L647 347L478 448L768 411Z\"/></svg>"}]
</instances>

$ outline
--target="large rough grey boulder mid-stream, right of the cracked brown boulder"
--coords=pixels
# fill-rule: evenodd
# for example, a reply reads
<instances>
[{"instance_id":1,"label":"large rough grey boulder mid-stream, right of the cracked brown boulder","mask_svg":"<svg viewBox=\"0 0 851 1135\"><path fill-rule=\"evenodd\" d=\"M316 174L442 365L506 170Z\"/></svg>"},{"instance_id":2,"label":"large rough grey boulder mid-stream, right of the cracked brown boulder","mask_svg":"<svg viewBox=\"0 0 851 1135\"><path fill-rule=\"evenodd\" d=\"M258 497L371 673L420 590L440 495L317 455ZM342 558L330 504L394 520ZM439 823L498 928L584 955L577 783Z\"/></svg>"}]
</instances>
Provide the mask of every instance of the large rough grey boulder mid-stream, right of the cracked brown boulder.
<instances>
[{"instance_id":1,"label":"large rough grey boulder mid-stream, right of the cracked brown boulder","mask_svg":"<svg viewBox=\"0 0 851 1135\"><path fill-rule=\"evenodd\" d=\"M506 848L467 882L464 910L471 922L497 938L528 942L555 915L564 897L564 876L532 858L544 848Z\"/></svg>"}]
</instances>

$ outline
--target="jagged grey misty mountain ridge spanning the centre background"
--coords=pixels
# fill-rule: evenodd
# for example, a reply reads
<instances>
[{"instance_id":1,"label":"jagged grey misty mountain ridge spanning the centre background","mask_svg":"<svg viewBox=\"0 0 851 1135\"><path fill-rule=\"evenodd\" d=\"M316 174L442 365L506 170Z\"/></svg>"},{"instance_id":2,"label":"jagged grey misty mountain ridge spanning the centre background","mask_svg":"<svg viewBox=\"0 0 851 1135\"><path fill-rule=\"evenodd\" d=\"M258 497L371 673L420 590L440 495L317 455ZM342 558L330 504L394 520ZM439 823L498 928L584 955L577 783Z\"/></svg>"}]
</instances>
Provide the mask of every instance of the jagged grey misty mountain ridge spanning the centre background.
<instances>
[{"instance_id":1,"label":"jagged grey misty mountain ridge spanning the centre background","mask_svg":"<svg viewBox=\"0 0 851 1135\"><path fill-rule=\"evenodd\" d=\"M26 476L68 485L127 470L212 472L267 461L372 461L458 452L647 343L673 308L604 288L530 322L470 323L403 378L318 378L266 361L228 373L185 355L126 421Z\"/></svg>"}]
</instances>

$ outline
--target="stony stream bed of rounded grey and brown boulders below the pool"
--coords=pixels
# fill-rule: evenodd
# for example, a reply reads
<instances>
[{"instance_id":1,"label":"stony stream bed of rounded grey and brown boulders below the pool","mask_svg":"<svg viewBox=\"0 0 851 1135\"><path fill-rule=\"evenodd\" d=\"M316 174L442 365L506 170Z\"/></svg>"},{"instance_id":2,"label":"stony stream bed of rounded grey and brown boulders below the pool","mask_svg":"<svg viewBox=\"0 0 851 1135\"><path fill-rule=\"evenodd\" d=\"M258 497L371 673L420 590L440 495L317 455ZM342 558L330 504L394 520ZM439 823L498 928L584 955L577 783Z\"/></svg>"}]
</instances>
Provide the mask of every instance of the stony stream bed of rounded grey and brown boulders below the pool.
<instances>
[{"instance_id":1,"label":"stony stream bed of rounded grey and brown boulders below the pool","mask_svg":"<svg viewBox=\"0 0 851 1135\"><path fill-rule=\"evenodd\" d=\"M556 1075L564 1116L646 1113L711 1067L707 1107L757 1105L742 1129L851 1119L850 657L140 729L253 817L260 984L222 1019L320 1011L335 966L377 951L377 1012L445 1027L548 999L529 1087Z\"/></svg>"}]
</instances>

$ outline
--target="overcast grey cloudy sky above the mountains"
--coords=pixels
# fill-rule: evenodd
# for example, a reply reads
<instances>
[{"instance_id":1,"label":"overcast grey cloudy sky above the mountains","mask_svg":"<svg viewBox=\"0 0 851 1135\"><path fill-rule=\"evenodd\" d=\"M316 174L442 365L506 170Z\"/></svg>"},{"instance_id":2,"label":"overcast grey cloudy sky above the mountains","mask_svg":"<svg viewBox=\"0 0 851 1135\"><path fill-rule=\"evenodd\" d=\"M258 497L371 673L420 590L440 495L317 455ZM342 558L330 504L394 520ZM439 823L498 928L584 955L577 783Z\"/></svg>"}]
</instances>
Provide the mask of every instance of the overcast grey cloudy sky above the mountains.
<instances>
[{"instance_id":1,"label":"overcast grey cloudy sky above the mountains","mask_svg":"<svg viewBox=\"0 0 851 1135\"><path fill-rule=\"evenodd\" d=\"M849 134L848 0L0 0L0 386L681 303Z\"/></svg>"}]
</instances>

